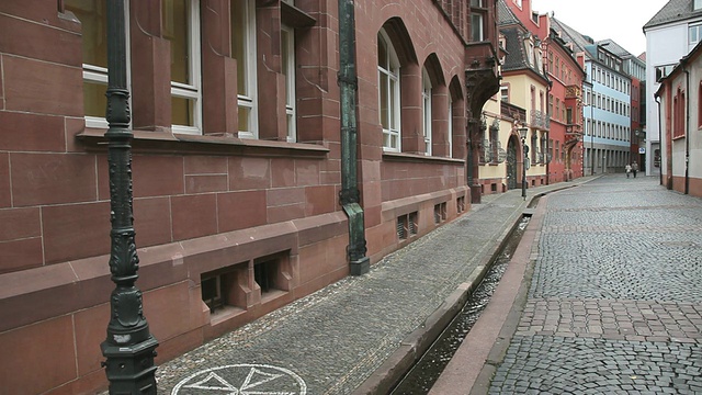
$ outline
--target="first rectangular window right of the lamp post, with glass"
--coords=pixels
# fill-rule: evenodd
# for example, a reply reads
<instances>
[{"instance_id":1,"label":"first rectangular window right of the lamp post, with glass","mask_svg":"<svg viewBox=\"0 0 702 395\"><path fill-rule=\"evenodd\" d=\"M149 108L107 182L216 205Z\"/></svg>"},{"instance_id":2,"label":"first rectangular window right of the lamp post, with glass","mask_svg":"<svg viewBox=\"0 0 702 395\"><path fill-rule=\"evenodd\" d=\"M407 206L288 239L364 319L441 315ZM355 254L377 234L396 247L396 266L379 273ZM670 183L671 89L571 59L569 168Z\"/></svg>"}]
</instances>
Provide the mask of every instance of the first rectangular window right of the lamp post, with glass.
<instances>
[{"instance_id":1,"label":"first rectangular window right of the lamp post, with glass","mask_svg":"<svg viewBox=\"0 0 702 395\"><path fill-rule=\"evenodd\" d=\"M200 1L161 4L163 37L171 42L171 124L174 133L200 133Z\"/></svg>"}]
</instances>

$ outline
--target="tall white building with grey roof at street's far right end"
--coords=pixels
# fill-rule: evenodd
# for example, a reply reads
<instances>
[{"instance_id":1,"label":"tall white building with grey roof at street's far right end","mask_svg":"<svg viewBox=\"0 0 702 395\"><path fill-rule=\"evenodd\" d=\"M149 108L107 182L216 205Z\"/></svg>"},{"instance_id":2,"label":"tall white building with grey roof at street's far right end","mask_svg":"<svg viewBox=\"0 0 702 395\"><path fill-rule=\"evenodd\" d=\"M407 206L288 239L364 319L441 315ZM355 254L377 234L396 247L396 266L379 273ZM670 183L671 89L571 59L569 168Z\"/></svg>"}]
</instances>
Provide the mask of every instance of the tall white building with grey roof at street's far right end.
<instances>
[{"instance_id":1,"label":"tall white building with grey roof at street's far right end","mask_svg":"<svg viewBox=\"0 0 702 395\"><path fill-rule=\"evenodd\" d=\"M648 23L646 34L646 174L660 174L660 124L654 93L702 38L702 0L670 0Z\"/></svg>"}]
</instances>

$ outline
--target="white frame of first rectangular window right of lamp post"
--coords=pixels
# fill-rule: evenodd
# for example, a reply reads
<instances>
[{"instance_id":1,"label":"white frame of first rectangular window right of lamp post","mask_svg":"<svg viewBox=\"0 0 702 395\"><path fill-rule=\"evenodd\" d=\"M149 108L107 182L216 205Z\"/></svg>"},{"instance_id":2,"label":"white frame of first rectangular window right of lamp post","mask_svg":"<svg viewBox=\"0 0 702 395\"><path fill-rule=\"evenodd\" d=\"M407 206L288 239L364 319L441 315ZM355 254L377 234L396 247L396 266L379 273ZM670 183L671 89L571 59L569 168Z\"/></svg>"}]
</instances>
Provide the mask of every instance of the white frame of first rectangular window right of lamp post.
<instances>
[{"instance_id":1,"label":"white frame of first rectangular window right of lamp post","mask_svg":"<svg viewBox=\"0 0 702 395\"><path fill-rule=\"evenodd\" d=\"M202 70L200 65L200 0L190 2L190 32L188 34L189 83L171 81L171 95L194 102L193 126L171 125L171 131L179 134L202 134Z\"/></svg>"}]
</instances>

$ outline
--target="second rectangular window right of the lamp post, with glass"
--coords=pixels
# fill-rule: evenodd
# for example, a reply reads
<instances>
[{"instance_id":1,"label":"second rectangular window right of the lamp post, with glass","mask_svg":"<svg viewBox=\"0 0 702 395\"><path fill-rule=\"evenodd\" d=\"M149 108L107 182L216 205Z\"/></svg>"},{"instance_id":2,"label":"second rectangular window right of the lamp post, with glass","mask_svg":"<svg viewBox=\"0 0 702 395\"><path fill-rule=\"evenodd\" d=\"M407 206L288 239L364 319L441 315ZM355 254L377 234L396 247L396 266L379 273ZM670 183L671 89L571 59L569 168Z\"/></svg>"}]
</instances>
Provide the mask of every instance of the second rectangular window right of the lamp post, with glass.
<instances>
[{"instance_id":1,"label":"second rectangular window right of the lamp post, with glass","mask_svg":"<svg viewBox=\"0 0 702 395\"><path fill-rule=\"evenodd\" d=\"M231 57L237 60L239 137L258 137L256 88L256 3L230 2Z\"/></svg>"}]
</instances>

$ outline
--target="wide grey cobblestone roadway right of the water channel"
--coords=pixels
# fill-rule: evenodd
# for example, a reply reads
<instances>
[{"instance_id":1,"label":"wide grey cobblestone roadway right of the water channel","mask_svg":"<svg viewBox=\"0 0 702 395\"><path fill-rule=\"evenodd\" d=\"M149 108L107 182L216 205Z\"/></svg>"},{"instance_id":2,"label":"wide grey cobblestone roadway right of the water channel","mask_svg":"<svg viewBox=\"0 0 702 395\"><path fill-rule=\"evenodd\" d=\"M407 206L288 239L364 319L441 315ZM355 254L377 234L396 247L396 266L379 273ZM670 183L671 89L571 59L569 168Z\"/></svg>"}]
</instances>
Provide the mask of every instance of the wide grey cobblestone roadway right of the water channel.
<instances>
[{"instance_id":1,"label":"wide grey cobblestone roadway right of the water channel","mask_svg":"<svg viewBox=\"0 0 702 395\"><path fill-rule=\"evenodd\" d=\"M550 194L490 394L702 394L702 200L658 178Z\"/></svg>"}]
</instances>

